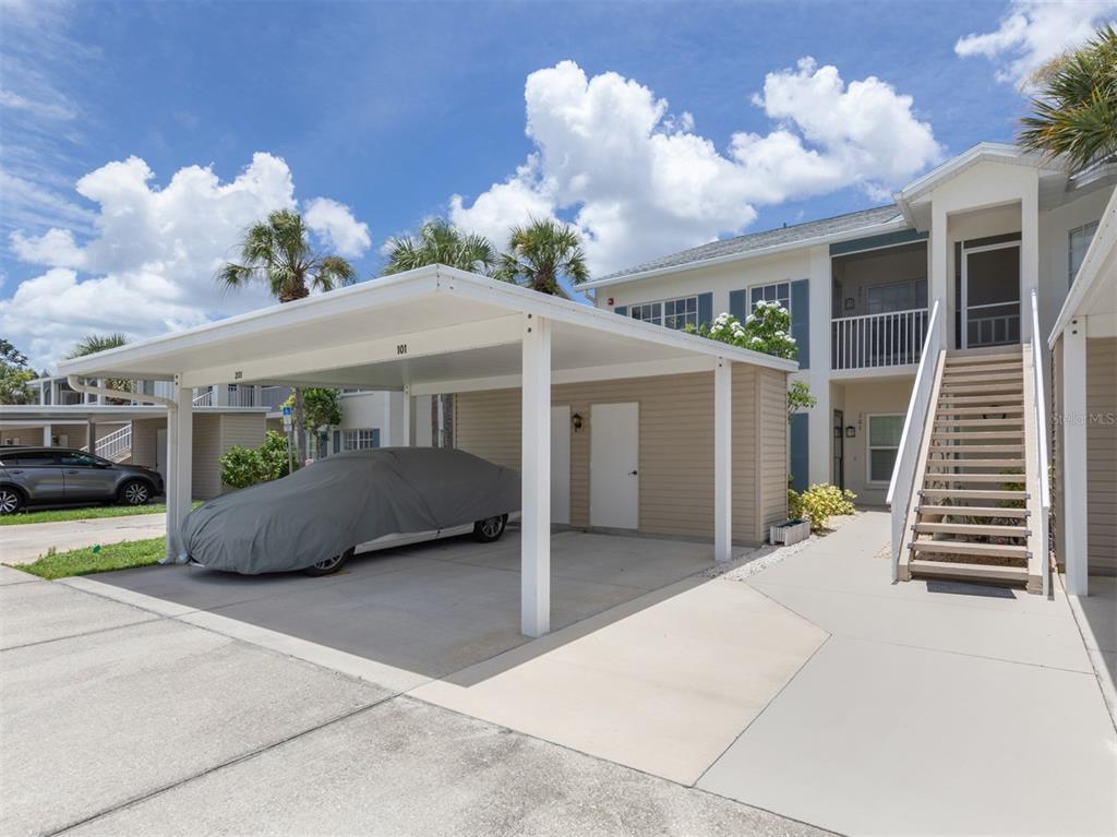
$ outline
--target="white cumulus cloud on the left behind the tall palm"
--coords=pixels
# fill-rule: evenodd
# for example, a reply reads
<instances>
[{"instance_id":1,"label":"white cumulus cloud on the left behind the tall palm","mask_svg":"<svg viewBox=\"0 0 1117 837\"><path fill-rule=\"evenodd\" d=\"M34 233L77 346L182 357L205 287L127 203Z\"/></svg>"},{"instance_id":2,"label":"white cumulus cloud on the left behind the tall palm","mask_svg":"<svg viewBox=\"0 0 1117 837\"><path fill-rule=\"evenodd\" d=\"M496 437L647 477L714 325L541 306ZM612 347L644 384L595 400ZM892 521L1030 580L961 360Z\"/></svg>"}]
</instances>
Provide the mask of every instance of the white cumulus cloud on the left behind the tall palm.
<instances>
[{"instance_id":1,"label":"white cumulus cloud on the left behind the tall palm","mask_svg":"<svg viewBox=\"0 0 1117 837\"><path fill-rule=\"evenodd\" d=\"M97 206L90 236L80 240L58 227L11 235L13 253L46 269L0 301L0 334L36 368L52 364L90 332L146 337L270 304L265 288L222 291L213 275L236 258L249 225L298 208L287 163L257 153L228 182L199 165L180 169L162 188L154 181L139 158L107 163L76 187ZM367 228L345 207L317 199L312 209L321 245L349 255L367 249Z\"/></svg>"}]
</instances>

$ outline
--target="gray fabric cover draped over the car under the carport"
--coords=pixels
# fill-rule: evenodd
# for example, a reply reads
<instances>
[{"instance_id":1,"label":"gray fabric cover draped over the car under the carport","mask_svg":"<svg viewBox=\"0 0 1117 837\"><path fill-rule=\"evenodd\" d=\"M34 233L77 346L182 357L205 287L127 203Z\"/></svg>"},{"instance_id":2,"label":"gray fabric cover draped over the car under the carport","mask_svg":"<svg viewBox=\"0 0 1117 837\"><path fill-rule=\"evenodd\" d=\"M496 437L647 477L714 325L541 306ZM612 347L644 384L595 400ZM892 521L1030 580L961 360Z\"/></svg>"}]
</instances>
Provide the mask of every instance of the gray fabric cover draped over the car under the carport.
<instances>
[{"instance_id":1,"label":"gray fabric cover draped over the car under the carport","mask_svg":"<svg viewBox=\"0 0 1117 837\"><path fill-rule=\"evenodd\" d=\"M519 504L518 473L464 450L354 450L199 506L182 523L179 562L302 570L383 535L460 526Z\"/></svg>"}]
</instances>

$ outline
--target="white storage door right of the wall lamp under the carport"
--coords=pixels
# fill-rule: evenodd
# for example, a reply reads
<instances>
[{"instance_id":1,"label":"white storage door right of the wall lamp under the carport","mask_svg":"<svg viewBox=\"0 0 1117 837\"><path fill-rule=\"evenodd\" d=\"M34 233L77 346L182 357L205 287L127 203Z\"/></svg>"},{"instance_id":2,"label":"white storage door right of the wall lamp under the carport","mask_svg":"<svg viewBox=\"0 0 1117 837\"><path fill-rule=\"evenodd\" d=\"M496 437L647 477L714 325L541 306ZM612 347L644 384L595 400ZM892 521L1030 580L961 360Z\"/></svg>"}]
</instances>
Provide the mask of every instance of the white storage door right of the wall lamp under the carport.
<instances>
[{"instance_id":1,"label":"white storage door right of the wall lamp under the carport","mask_svg":"<svg viewBox=\"0 0 1117 837\"><path fill-rule=\"evenodd\" d=\"M640 405L590 407L590 525L640 525Z\"/></svg>"}]
</instances>

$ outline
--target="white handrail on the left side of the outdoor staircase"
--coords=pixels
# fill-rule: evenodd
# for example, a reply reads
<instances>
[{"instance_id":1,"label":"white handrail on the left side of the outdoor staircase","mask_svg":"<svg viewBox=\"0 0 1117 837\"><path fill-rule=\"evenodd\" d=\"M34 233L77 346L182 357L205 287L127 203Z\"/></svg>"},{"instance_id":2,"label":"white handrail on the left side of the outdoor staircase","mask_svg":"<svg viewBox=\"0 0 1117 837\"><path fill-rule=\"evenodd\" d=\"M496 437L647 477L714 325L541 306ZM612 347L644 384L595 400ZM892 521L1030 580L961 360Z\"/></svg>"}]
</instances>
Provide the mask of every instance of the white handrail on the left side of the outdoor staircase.
<instances>
[{"instance_id":1,"label":"white handrail on the left side of the outdoor staircase","mask_svg":"<svg viewBox=\"0 0 1117 837\"><path fill-rule=\"evenodd\" d=\"M888 494L885 498L892 515L892 581L897 580L899 571L900 551L904 549L904 525L911 505L911 493L915 491L915 476L919 465L919 449L927 424L927 412L933 408L930 394L938 369L941 330L938 299L936 299L930 310L930 318L927 321L927 336L923 342L923 354L919 356L919 368L915 373L915 386L911 387L911 399L908 401L907 415L904 418L900 446L896 451L892 478L888 482Z\"/></svg>"}]
</instances>

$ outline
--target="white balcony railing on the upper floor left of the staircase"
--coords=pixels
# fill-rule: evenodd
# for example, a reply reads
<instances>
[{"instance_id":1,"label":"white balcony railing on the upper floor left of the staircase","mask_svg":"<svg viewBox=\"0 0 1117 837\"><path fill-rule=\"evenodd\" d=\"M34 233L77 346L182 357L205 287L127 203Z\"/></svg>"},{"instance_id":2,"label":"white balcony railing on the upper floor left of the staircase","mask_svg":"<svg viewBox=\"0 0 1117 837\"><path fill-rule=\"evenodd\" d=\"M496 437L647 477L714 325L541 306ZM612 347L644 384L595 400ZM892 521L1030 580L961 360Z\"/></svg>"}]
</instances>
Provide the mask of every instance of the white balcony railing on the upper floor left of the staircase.
<instances>
[{"instance_id":1,"label":"white balcony railing on the upper floor left of the staircase","mask_svg":"<svg viewBox=\"0 0 1117 837\"><path fill-rule=\"evenodd\" d=\"M832 369L879 369L919 362L927 308L848 316L831 323Z\"/></svg>"}]
</instances>

